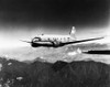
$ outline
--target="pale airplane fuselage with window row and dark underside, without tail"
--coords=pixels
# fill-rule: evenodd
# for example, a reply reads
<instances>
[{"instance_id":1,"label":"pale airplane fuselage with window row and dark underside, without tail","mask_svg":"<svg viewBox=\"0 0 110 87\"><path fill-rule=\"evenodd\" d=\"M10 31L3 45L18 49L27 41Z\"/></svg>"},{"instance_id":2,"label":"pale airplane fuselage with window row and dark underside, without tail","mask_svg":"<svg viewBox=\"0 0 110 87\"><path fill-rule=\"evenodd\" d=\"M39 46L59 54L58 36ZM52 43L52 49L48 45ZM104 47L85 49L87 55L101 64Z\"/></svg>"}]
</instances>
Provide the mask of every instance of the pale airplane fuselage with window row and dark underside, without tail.
<instances>
[{"instance_id":1,"label":"pale airplane fuselage with window row and dark underside, without tail","mask_svg":"<svg viewBox=\"0 0 110 87\"><path fill-rule=\"evenodd\" d=\"M62 43L72 42L75 39L72 39L69 35L38 35L38 37L33 39L32 46L62 46Z\"/></svg>"}]
</instances>

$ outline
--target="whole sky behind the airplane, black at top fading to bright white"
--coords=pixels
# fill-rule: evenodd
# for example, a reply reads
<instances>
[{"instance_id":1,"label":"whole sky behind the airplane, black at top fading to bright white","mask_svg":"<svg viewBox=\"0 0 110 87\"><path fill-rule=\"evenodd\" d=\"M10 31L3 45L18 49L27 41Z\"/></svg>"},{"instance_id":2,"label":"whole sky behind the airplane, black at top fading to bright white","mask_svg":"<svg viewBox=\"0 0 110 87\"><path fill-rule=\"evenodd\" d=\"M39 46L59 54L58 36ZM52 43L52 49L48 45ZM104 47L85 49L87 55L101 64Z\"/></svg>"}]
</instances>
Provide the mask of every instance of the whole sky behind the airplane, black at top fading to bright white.
<instances>
[{"instance_id":1,"label":"whole sky behind the airplane, black at top fading to bright white","mask_svg":"<svg viewBox=\"0 0 110 87\"><path fill-rule=\"evenodd\" d=\"M20 44L19 40L41 33L68 34L73 25L79 39L101 35L110 23L109 3L109 0L0 0L1 46L14 46Z\"/></svg>"}]
</instances>

